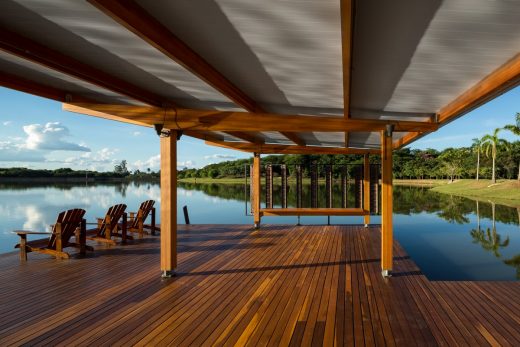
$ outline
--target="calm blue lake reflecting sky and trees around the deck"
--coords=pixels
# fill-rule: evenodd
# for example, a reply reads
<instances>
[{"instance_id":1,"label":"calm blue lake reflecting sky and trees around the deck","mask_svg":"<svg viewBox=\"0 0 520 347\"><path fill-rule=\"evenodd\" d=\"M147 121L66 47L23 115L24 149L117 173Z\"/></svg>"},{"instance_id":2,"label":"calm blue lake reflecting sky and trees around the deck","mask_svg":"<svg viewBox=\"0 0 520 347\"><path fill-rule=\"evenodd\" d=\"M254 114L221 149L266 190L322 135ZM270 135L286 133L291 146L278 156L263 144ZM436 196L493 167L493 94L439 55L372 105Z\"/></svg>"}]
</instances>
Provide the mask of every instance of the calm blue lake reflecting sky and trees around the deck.
<instances>
[{"instance_id":1,"label":"calm blue lake reflecting sky and trees around the deck","mask_svg":"<svg viewBox=\"0 0 520 347\"><path fill-rule=\"evenodd\" d=\"M291 189L291 187L289 187ZM308 186L303 200L308 201ZM320 189L320 192L324 189ZM281 194L275 189L276 200ZM188 184L178 189L179 223L182 206L189 209L192 224L252 224L246 215L249 192L241 184ZM353 199L353 194L349 194ZM143 200L160 201L159 185L59 184L0 185L0 253L12 252L18 237L12 230L48 231L59 211L80 207L87 220L124 202L136 211ZM339 206L339 192L335 194ZM321 194L320 207L325 196ZM294 201L289 195L289 206ZM349 202L353 206L353 200ZM157 206L158 207L158 206ZM520 279L520 207L443 195L427 188L394 188L394 234L412 259L431 280ZM379 216L372 216L379 223ZM262 223L295 224L296 217L266 217ZM302 224L325 224L326 217L302 217ZM332 224L359 224L362 217L331 217Z\"/></svg>"}]
</instances>

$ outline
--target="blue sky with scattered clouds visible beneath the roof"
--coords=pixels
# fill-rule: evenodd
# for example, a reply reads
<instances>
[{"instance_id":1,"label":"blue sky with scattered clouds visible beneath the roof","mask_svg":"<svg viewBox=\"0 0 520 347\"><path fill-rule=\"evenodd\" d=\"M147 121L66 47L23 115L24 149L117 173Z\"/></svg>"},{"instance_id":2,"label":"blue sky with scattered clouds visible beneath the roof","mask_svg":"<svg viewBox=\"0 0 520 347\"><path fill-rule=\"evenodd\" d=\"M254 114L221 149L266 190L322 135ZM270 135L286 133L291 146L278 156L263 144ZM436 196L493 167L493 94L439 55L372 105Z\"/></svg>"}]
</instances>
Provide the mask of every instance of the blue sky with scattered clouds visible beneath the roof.
<instances>
[{"instance_id":1,"label":"blue sky with scattered clouds visible beneath the roof","mask_svg":"<svg viewBox=\"0 0 520 347\"><path fill-rule=\"evenodd\" d=\"M112 171L114 165L126 160L132 171L159 169L159 137L151 128L65 112L59 102L2 87L0 103L0 167ZM442 150L469 146L473 138L513 124L517 112L520 87L409 147ZM515 139L506 131L501 137ZM177 153L179 169L250 157L187 136L179 141Z\"/></svg>"}]
</instances>

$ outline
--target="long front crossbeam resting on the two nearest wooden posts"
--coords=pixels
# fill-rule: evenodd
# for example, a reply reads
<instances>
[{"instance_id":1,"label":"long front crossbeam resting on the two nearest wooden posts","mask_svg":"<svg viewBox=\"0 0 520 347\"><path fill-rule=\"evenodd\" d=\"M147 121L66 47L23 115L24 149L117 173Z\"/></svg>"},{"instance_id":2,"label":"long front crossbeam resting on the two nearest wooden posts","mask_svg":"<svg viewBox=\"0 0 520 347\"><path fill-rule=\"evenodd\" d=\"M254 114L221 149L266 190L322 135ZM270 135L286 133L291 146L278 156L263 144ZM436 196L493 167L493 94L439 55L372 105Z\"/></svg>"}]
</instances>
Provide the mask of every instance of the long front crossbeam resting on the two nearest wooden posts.
<instances>
[{"instance_id":1,"label":"long front crossbeam resting on the two nearest wooden posts","mask_svg":"<svg viewBox=\"0 0 520 347\"><path fill-rule=\"evenodd\" d=\"M164 109L133 105L74 103L64 104L63 109L96 117L103 117L103 114L108 114L148 125L162 123L168 129L192 131L366 132L384 130L387 124L393 124L394 131L432 131L437 129L437 124L430 122L344 119L330 116L281 115L182 108Z\"/></svg>"}]
</instances>

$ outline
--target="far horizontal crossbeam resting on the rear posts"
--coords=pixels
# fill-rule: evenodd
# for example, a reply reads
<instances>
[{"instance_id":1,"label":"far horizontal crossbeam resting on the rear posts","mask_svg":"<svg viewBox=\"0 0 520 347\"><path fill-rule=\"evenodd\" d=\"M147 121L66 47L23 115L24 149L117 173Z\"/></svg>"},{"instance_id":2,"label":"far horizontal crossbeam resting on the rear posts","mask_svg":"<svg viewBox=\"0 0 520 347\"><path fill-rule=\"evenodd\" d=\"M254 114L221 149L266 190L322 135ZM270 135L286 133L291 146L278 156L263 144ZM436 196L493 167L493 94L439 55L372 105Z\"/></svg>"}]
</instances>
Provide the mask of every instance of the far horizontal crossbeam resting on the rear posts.
<instances>
[{"instance_id":1,"label":"far horizontal crossbeam resting on the rear posts","mask_svg":"<svg viewBox=\"0 0 520 347\"><path fill-rule=\"evenodd\" d=\"M258 152L262 154L379 154L376 149L358 149L343 147L318 147L318 146L291 146L263 144L255 145L244 142L206 141L207 145L234 149L243 152Z\"/></svg>"}]
</instances>

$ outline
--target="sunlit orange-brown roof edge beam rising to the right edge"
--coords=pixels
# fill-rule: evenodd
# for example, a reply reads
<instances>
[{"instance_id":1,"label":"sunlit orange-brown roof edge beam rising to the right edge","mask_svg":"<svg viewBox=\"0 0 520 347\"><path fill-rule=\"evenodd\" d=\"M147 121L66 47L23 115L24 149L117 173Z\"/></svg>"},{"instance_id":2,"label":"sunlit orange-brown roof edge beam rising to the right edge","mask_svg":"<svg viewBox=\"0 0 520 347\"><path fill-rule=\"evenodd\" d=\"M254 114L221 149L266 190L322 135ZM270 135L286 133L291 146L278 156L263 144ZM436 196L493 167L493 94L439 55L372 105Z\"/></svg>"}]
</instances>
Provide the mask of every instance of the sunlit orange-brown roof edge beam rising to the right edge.
<instances>
[{"instance_id":1,"label":"sunlit orange-brown roof edge beam rising to the right edge","mask_svg":"<svg viewBox=\"0 0 520 347\"><path fill-rule=\"evenodd\" d=\"M452 120L470 112L480 105L507 92L520 83L520 53L487 75L480 82L461 94L448 105L440 109L438 121L445 125ZM418 138L424 136L423 132L415 132L406 135L396 141L394 147L403 147Z\"/></svg>"}]
</instances>

